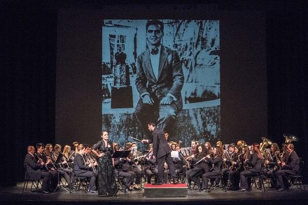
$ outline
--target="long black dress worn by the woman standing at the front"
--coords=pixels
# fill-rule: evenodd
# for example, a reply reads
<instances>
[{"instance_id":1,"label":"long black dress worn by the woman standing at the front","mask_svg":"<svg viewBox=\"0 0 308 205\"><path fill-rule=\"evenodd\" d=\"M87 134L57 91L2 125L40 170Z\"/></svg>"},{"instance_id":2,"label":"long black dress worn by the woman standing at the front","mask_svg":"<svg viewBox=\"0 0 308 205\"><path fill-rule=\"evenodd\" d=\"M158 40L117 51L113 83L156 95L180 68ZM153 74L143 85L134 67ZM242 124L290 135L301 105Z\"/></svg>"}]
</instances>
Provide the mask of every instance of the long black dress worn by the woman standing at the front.
<instances>
[{"instance_id":1,"label":"long black dress worn by the woman standing at the front","mask_svg":"<svg viewBox=\"0 0 308 205\"><path fill-rule=\"evenodd\" d=\"M105 147L104 140L98 141L92 149L105 153L105 156L99 158L99 195L112 196L117 191L115 185L114 167L112 166L111 156L113 154L112 144L110 147Z\"/></svg>"}]
</instances>

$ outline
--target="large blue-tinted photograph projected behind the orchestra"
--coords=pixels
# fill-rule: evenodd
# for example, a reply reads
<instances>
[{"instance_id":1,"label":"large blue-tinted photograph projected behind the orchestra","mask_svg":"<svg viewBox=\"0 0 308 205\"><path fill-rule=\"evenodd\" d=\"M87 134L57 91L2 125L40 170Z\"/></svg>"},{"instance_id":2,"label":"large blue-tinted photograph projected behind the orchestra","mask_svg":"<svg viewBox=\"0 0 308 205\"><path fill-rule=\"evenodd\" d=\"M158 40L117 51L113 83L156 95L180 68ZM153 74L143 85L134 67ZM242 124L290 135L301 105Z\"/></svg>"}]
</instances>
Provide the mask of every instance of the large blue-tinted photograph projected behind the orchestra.
<instances>
[{"instance_id":1,"label":"large blue-tinted photograph projected behind the orchestra","mask_svg":"<svg viewBox=\"0 0 308 205\"><path fill-rule=\"evenodd\" d=\"M112 141L220 138L219 20L104 19L102 129ZM131 136L131 137L129 137Z\"/></svg>"}]
</instances>

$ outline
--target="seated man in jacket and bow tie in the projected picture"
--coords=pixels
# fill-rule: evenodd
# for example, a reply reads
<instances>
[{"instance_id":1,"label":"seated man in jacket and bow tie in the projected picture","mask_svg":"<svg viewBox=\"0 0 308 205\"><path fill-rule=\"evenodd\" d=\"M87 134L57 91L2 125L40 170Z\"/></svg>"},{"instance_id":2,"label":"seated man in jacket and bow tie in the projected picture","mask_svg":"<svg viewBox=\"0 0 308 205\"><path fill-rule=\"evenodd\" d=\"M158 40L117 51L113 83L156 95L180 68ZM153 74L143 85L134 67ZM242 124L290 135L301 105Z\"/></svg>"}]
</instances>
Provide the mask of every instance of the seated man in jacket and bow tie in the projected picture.
<instances>
[{"instance_id":1,"label":"seated man in jacket and bow tie in the projected picture","mask_svg":"<svg viewBox=\"0 0 308 205\"><path fill-rule=\"evenodd\" d=\"M176 115L183 107L182 64L177 51L161 45L163 35L164 24L160 20L147 22L148 48L138 56L136 63L136 88L140 94L136 117L148 139L148 121L157 122L157 127L163 131L171 131Z\"/></svg>"}]
</instances>

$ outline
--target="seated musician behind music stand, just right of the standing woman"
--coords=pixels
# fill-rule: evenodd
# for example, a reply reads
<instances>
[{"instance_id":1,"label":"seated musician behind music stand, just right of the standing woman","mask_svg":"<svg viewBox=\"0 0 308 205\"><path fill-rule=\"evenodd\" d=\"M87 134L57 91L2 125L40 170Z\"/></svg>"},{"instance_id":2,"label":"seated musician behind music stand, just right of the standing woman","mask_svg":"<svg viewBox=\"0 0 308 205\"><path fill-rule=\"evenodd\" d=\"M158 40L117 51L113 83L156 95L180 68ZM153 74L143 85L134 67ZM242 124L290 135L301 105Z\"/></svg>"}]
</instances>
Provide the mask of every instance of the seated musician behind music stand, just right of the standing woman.
<instances>
[{"instance_id":1,"label":"seated musician behind music stand, just right of the standing woman","mask_svg":"<svg viewBox=\"0 0 308 205\"><path fill-rule=\"evenodd\" d=\"M115 145L114 150L121 151L121 146ZM124 182L125 182L124 192L129 192L129 191L132 191L131 185L133 183L134 177L136 177L136 174L134 172L130 172L129 169L126 169L126 168L124 168L125 170L124 171L123 161L125 160L120 157L113 158L114 172L115 172L116 177L119 177L119 176L124 177Z\"/></svg>"}]
</instances>

